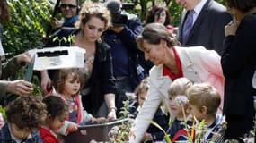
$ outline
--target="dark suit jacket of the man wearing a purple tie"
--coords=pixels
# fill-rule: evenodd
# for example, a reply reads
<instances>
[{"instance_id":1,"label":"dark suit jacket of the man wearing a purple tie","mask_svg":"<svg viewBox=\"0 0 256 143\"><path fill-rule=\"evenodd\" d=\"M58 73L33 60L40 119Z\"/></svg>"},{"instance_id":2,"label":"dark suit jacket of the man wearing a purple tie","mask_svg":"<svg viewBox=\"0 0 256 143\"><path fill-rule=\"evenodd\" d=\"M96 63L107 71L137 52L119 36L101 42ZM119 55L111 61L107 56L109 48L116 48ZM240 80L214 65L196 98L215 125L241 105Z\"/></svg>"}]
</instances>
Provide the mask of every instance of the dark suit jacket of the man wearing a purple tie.
<instances>
[{"instance_id":1,"label":"dark suit jacket of the man wearing a purple tie","mask_svg":"<svg viewBox=\"0 0 256 143\"><path fill-rule=\"evenodd\" d=\"M181 14L178 38L182 43L182 30L186 21L188 11ZM213 0L207 0L203 6L197 20L194 22L187 43L182 46L205 46L209 50L216 50L221 55L223 41L225 38L225 25L232 20L223 5Z\"/></svg>"}]
</instances>

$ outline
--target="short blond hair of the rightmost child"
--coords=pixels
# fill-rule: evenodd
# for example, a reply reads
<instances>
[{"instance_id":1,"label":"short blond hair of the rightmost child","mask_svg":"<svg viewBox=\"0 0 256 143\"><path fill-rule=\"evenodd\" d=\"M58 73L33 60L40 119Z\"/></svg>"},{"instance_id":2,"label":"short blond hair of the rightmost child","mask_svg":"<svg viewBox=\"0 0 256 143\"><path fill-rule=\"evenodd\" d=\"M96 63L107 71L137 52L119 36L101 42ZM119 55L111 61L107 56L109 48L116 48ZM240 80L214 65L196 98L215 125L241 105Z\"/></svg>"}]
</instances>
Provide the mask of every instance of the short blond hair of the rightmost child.
<instances>
[{"instance_id":1,"label":"short blond hair of the rightmost child","mask_svg":"<svg viewBox=\"0 0 256 143\"><path fill-rule=\"evenodd\" d=\"M208 83L194 84L187 91L189 103L195 105L199 111L203 106L207 107L207 114L216 114L220 105L220 94Z\"/></svg>"}]
</instances>

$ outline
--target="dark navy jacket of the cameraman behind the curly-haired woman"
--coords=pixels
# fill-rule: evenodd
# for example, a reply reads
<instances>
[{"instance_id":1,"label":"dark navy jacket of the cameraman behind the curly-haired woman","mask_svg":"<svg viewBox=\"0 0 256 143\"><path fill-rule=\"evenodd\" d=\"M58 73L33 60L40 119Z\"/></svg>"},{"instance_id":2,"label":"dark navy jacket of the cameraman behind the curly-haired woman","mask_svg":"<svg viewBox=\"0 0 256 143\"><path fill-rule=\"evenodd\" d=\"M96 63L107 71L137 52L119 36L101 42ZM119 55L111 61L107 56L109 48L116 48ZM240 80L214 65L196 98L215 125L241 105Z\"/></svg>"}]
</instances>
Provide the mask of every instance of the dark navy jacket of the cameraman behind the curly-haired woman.
<instances>
[{"instance_id":1,"label":"dark navy jacket of the cameraman behind the curly-haired woman","mask_svg":"<svg viewBox=\"0 0 256 143\"><path fill-rule=\"evenodd\" d=\"M136 38L140 31L143 29L141 21L137 18L137 15L128 14L127 24L124 26L124 29L120 33L115 33L112 30L106 30L102 34L103 40L111 47L116 46L125 46L125 49L128 51L128 72L130 78L136 81L136 85L140 80L143 79L143 75L140 75L141 72L137 71L137 65L140 63L139 55L140 52L137 48ZM116 51L111 49L111 54L115 54ZM113 57L115 60L116 57ZM115 68L115 65L114 65ZM114 73L115 74L115 73ZM115 75L117 76L117 75ZM124 75L121 75L124 76Z\"/></svg>"}]
</instances>

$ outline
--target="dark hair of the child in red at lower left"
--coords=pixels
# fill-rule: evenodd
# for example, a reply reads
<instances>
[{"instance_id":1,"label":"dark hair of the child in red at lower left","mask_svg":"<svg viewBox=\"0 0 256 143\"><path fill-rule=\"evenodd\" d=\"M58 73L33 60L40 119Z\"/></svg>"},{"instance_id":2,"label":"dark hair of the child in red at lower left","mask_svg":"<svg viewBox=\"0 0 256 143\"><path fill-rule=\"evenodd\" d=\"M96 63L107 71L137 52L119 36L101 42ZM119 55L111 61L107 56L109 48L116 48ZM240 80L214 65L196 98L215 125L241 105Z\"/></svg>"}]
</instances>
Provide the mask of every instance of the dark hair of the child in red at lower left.
<instances>
[{"instance_id":1,"label":"dark hair of the child in red at lower left","mask_svg":"<svg viewBox=\"0 0 256 143\"><path fill-rule=\"evenodd\" d=\"M48 114L54 119L55 117L68 112L68 106L61 97L47 96L43 98L43 103L47 107Z\"/></svg>"}]
</instances>

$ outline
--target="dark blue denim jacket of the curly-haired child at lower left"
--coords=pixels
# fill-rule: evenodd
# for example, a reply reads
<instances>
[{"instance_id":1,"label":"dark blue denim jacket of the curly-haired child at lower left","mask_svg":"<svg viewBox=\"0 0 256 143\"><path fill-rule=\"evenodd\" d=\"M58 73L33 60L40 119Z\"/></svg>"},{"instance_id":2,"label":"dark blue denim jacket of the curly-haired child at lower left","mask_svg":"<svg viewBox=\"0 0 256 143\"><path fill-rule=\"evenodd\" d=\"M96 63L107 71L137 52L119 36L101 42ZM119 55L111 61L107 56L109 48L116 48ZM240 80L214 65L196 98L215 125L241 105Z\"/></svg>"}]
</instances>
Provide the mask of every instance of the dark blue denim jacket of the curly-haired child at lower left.
<instances>
[{"instance_id":1,"label":"dark blue denim jacket of the curly-haired child at lower left","mask_svg":"<svg viewBox=\"0 0 256 143\"><path fill-rule=\"evenodd\" d=\"M11 137L8 123L5 123L0 130L0 143L16 143ZM22 143L42 143L39 132L37 130L32 130L31 138L23 140Z\"/></svg>"}]
</instances>

